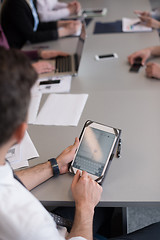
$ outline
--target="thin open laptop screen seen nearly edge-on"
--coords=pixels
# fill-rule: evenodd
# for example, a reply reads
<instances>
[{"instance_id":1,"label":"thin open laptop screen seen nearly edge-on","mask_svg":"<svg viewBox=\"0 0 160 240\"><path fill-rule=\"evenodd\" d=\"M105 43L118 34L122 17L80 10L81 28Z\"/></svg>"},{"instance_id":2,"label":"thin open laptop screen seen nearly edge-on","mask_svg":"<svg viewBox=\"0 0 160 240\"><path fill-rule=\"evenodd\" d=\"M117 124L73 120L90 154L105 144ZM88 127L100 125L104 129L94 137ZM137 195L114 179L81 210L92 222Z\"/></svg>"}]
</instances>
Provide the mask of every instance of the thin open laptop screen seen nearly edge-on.
<instances>
[{"instance_id":1,"label":"thin open laptop screen seen nearly edge-on","mask_svg":"<svg viewBox=\"0 0 160 240\"><path fill-rule=\"evenodd\" d=\"M77 60L78 60L77 65L78 65L78 67L79 67L79 64L80 64L81 56L82 56L82 51L83 51L85 38L86 38L86 26L85 26L85 22L83 21L82 22L81 34L79 36L77 49L76 49L76 55L77 55Z\"/></svg>"}]
</instances>

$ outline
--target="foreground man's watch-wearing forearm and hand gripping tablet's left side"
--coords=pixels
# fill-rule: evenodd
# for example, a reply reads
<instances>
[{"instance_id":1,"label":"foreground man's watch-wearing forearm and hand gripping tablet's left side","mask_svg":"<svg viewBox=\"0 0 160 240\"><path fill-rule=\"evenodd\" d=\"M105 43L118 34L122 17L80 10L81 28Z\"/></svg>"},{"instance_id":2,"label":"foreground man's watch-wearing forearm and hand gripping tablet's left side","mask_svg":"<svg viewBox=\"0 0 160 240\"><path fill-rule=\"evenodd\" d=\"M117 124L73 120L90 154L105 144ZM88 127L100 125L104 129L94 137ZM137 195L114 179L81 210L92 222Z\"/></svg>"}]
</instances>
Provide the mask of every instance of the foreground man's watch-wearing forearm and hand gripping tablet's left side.
<instances>
[{"instance_id":1,"label":"foreground man's watch-wearing forearm and hand gripping tablet's left side","mask_svg":"<svg viewBox=\"0 0 160 240\"><path fill-rule=\"evenodd\" d=\"M73 145L66 148L57 158L60 174L68 171L68 164L73 160L75 151L79 145L78 138ZM53 170L49 161L24 170L15 172L28 190L33 189L53 176Z\"/></svg>"}]
</instances>

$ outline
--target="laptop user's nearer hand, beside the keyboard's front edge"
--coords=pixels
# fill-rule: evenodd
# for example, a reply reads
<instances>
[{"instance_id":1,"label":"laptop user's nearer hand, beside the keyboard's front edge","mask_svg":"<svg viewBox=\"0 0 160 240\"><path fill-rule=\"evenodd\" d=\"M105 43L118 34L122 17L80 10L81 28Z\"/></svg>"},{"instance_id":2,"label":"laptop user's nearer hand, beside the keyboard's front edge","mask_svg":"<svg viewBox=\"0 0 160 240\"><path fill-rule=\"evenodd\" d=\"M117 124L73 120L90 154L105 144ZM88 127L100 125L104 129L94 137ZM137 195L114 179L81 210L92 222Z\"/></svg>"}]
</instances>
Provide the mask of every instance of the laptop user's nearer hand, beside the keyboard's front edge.
<instances>
[{"instance_id":1,"label":"laptop user's nearer hand, beside the keyboard's front edge","mask_svg":"<svg viewBox=\"0 0 160 240\"><path fill-rule=\"evenodd\" d=\"M54 70L53 65L47 61L38 61L36 63L32 63L32 67L34 67L38 74L52 72Z\"/></svg>"}]
</instances>

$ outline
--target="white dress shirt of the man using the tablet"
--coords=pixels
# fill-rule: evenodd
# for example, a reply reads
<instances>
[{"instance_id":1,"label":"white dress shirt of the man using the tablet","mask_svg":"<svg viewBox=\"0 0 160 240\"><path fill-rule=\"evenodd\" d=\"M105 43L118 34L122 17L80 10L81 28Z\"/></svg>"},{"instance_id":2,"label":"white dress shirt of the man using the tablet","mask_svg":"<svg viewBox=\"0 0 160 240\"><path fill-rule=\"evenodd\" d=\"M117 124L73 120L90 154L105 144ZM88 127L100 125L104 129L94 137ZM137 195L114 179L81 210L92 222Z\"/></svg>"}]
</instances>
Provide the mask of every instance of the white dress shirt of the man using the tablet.
<instances>
[{"instance_id":1,"label":"white dress shirt of the man using the tablet","mask_svg":"<svg viewBox=\"0 0 160 240\"><path fill-rule=\"evenodd\" d=\"M13 177L9 163L0 165L0 239L64 240L43 205Z\"/></svg>"}]
</instances>

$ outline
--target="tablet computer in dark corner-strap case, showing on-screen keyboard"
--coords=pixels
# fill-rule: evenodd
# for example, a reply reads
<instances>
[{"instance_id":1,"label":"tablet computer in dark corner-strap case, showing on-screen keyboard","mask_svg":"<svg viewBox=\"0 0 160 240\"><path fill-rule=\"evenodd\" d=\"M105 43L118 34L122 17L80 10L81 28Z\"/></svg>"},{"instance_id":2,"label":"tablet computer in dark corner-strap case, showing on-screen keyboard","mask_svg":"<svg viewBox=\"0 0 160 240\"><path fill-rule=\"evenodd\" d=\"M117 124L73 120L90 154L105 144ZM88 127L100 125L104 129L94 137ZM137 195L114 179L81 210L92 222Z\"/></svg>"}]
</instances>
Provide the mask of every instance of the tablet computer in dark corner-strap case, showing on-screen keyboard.
<instances>
[{"instance_id":1,"label":"tablet computer in dark corner-strap case, showing on-screen keyboard","mask_svg":"<svg viewBox=\"0 0 160 240\"><path fill-rule=\"evenodd\" d=\"M86 171L101 183L113 158L121 130L88 120L80 135L80 144L70 172Z\"/></svg>"}]
</instances>

